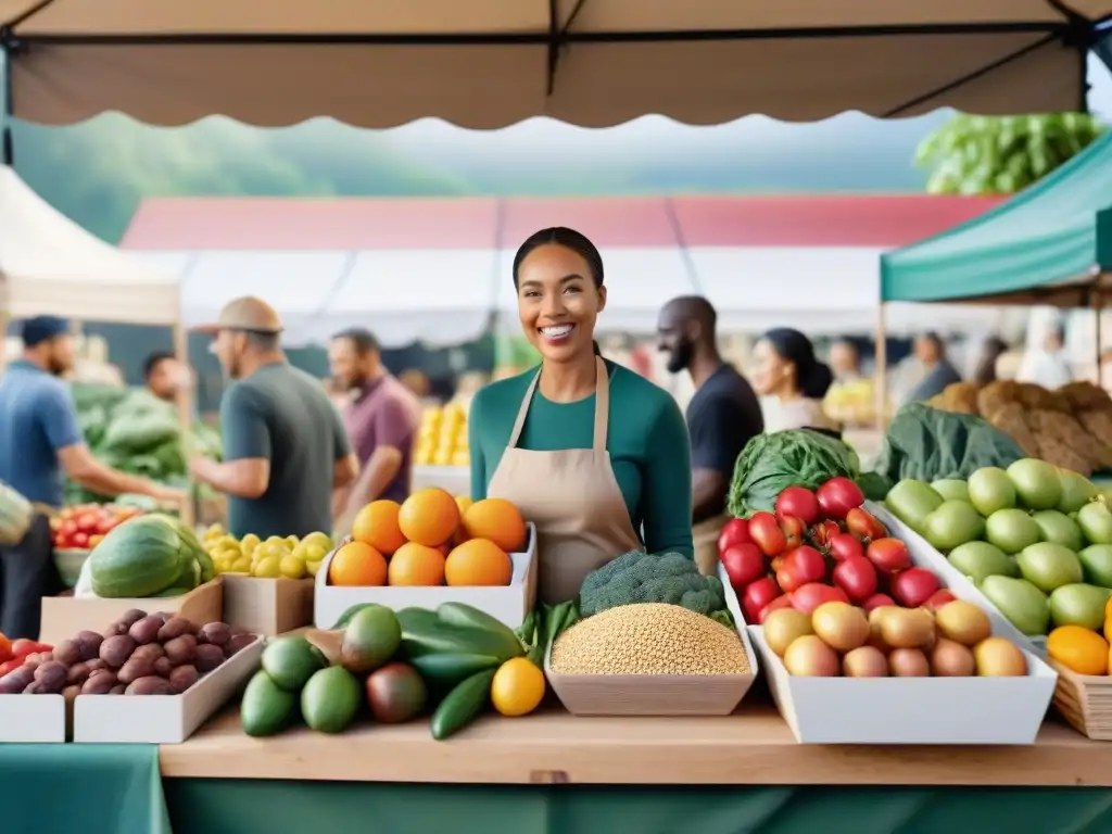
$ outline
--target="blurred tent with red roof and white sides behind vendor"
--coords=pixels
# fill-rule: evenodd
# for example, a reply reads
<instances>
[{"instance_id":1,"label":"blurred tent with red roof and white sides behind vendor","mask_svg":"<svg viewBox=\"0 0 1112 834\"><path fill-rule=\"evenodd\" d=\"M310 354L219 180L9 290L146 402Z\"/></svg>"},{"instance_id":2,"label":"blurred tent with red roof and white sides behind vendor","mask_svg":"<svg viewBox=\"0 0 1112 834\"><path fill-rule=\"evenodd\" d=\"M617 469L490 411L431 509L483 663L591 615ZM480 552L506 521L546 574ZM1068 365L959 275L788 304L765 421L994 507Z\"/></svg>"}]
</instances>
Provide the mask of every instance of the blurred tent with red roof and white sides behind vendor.
<instances>
[{"instance_id":1,"label":"blurred tent with red roof and white sides behind vendor","mask_svg":"<svg viewBox=\"0 0 1112 834\"><path fill-rule=\"evenodd\" d=\"M513 319L514 251L570 226L603 252L606 331L651 332L661 306L707 297L725 331L791 325L872 331L882 251L996 205L966 197L592 199L196 199L143 201L122 246L181 279L187 325L251 294L282 314L290 344L360 324L388 346L454 345L492 314ZM966 326L985 310L931 306L890 327Z\"/></svg>"}]
</instances>

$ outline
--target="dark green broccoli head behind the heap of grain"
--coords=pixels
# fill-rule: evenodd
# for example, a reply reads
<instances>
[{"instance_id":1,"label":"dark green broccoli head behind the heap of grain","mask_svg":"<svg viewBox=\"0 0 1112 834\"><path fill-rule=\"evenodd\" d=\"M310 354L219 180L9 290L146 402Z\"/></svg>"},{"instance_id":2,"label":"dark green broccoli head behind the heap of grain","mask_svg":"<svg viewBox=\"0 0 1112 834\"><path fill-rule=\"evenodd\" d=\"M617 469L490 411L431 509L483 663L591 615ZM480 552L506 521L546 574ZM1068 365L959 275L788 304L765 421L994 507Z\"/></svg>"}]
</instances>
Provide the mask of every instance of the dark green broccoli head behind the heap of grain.
<instances>
[{"instance_id":1,"label":"dark green broccoli head behind the heap of grain","mask_svg":"<svg viewBox=\"0 0 1112 834\"><path fill-rule=\"evenodd\" d=\"M579 588L584 617L634 603L668 603L706 615L726 607L722 583L678 553L623 554L588 574Z\"/></svg>"}]
</instances>

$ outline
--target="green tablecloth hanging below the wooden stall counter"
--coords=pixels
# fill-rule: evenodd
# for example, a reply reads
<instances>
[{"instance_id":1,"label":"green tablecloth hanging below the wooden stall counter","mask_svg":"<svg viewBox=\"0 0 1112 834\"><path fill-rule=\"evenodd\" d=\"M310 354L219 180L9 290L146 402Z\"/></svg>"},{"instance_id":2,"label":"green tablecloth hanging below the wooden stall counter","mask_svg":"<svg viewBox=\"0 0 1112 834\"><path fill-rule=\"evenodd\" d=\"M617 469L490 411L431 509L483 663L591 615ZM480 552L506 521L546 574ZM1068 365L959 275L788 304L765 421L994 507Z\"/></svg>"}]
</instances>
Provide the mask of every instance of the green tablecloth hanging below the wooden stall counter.
<instances>
[{"instance_id":1,"label":"green tablecloth hanging below the wooden stall counter","mask_svg":"<svg viewBox=\"0 0 1112 834\"><path fill-rule=\"evenodd\" d=\"M163 796L165 788L165 796ZM1108 788L166 780L145 745L0 745L3 834L1101 834Z\"/></svg>"}]
</instances>

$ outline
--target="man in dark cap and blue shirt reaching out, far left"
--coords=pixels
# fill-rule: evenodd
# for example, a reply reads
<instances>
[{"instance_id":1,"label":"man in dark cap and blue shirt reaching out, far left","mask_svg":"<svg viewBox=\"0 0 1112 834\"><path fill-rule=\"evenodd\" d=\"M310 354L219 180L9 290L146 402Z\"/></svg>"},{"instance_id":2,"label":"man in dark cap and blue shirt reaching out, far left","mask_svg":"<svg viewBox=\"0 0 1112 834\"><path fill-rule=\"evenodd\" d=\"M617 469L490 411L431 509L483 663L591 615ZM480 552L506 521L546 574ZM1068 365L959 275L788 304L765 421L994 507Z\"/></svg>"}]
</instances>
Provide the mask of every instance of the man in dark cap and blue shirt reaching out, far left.
<instances>
[{"instance_id":1,"label":"man in dark cap and blue shirt reaching out, far left","mask_svg":"<svg viewBox=\"0 0 1112 834\"><path fill-rule=\"evenodd\" d=\"M41 597L61 590L47 514L62 505L63 473L100 495L142 493L166 503L183 497L105 466L89 451L69 386L60 379L73 367L66 319L28 319L22 338L22 357L0 378L0 480L42 514L20 544L0 549L0 632L9 638L36 638Z\"/></svg>"}]
</instances>

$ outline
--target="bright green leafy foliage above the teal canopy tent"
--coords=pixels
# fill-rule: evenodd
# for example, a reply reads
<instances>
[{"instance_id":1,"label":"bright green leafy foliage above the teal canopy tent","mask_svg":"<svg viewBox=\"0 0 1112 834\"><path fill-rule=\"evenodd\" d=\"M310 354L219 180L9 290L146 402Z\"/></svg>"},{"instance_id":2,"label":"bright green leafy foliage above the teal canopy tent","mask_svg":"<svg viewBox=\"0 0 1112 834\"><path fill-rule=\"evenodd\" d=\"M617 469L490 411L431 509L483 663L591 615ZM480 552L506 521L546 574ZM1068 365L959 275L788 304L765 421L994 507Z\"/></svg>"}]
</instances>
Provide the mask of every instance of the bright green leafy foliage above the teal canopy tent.
<instances>
[{"instance_id":1,"label":"bright green leafy foliage above the teal canopy tent","mask_svg":"<svg viewBox=\"0 0 1112 834\"><path fill-rule=\"evenodd\" d=\"M1083 151L1104 130L1085 113L959 113L920 142L915 165L930 170L930 193L1015 193Z\"/></svg>"}]
</instances>

